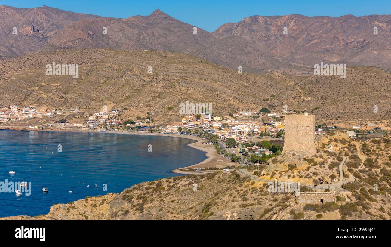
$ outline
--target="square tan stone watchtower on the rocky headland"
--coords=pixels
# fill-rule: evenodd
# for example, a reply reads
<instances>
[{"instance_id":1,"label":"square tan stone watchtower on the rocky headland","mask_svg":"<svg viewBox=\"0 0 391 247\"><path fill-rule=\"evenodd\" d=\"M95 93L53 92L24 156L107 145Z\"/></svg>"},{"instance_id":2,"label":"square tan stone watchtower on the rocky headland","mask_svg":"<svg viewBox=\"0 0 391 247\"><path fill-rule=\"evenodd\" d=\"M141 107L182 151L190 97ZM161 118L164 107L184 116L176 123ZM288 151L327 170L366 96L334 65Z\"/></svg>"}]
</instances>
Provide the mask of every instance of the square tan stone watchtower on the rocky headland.
<instances>
[{"instance_id":1,"label":"square tan stone watchtower on the rocky headland","mask_svg":"<svg viewBox=\"0 0 391 247\"><path fill-rule=\"evenodd\" d=\"M315 115L308 113L285 116L285 143L283 152L294 151L315 154Z\"/></svg>"}]
</instances>

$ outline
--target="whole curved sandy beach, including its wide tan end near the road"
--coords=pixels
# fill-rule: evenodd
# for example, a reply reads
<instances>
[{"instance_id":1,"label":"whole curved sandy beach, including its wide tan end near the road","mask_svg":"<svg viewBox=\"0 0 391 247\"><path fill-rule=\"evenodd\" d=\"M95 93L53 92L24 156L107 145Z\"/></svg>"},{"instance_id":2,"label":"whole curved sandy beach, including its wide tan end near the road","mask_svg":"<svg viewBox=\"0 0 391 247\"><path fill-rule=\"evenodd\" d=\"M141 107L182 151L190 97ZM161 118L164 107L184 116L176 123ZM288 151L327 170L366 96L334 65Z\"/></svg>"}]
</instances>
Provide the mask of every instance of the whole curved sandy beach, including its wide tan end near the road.
<instances>
[{"instance_id":1,"label":"whole curved sandy beach, including its wide tan end near the road","mask_svg":"<svg viewBox=\"0 0 391 247\"><path fill-rule=\"evenodd\" d=\"M130 134L130 135L140 135L140 136L168 136L168 137L178 137L178 138L186 138L186 139L191 139L195 140L197 142L190 143L188 144L189 147L199 149L203 152L205 152L205 156L207 157L200 163L190 165L190 166L185 166L181 167L175 170L172 170L172 172L179 173L179 174L195 174L195 175L200 175L203 173L209 173L209 172L214 172L215 170L205 170L202 172L190 172L190 171L181 171L181 169L190 169L194 168L211 168L211 167L217 167L217 168L225 168L226 166L231 166L233 163L229 161L228 159L225 159L218 155L216 153L215 147L212 144L203 144L205 140L197 137L197 136L188 136L188 135L179 135L179 134L162 134L162 133L149 133L149 132L127 132L127 131L104 131L104 132L99 132L99 131L90 131L90 130L82 130L82 129L58 129L58 128L52 128L52 129L44 129L44 130L30 130L26 129L25 127L11 127L11 128L0 128L0 129L12 129L12 130L18 130L18 131L66 131L66 132L93 132L93 133L102 133L102 134Z\"/></svg>"}]
</instances>

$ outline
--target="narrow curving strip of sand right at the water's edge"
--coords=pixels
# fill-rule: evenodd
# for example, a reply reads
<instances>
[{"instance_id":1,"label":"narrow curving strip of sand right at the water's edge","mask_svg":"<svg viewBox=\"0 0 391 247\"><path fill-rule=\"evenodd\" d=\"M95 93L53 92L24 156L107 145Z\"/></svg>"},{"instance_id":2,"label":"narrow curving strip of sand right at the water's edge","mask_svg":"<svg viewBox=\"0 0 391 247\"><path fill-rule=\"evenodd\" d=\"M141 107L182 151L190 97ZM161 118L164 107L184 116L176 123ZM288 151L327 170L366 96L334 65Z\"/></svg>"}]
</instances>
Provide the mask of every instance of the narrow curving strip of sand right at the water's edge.
<instances>
[{"instance_id":1,"label":"narrow curving strip of sand right at the water's edge","mask_svg":"<svg viewBox=\"0 0 391 247\"><path fill-rule=\"evenodd\" d=\"M193 142L193 143L189 143L187 144L187 146L189 147L192 147L194 149L198 149L198 150L201 150L203 151L205 154L204 156L206 156L206 159L204 159L203 161L199 162L199 163L196 163L196 164L193 164L193 165L190 165L190 166L185 166L185 167L179 167L179 168L176 168L174 170L171 170L171 172L174 172L174 173L177 173L177 174L185 174L185 175L201 175L203 174L203 172L184 172L184 171L180 171L180 169L188 169L188 168L192 168L192 167L195 167L195 166L202 166L203 164L205 163L209 163L213 160L213 158L217 158L217 157L220 157L216 152L215 152L215 148L213 145L211 144L202 144L203 139L197 137L197 136L187 136L187 135L180 135L180 134L163 134L163 133L150 133L150 132L127 132L127 131L104 131L104 132L99 132L99 131L90 131L90 130L83 130L83 129L43 129L43 130L40 130L40 129L26 129L25 127L24 128L21 128L21 129L18 129L18 128L15 128L15 127L11 127L11 128L0 128L0 130L2 129L8 129L8 130L15 130L15 131L52 131L52 132L86 132L86 133L107 133L107 134L130 134L130 135L139 135L139 136L173 136L173 137L178 137L178 138L185 138L185 139L190 139L190 140L194 140L196 142ZM204 171L204 172L207 172L207 171Z\"/></svg>"}]
</instances>

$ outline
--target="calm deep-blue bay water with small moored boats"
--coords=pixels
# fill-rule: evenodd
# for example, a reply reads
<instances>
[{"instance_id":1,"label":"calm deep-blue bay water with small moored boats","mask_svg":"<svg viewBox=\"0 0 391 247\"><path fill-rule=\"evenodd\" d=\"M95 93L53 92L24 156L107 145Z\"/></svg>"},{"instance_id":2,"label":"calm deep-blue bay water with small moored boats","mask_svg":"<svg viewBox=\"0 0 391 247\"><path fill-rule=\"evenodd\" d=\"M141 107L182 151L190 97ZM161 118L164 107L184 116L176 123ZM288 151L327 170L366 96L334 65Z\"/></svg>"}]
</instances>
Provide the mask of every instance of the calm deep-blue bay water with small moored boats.
<instances>
[{"instance_id":1,"label":"calm deep-blue bay water with small moored boats","mask_svg":"<svg viewBox=\"0 0 391 247\"><path fill-rule=\"evenodd\" d=\"M192 142L170 136L0 130L0 181L31 182L29 196L0 193L0 217L46 214L55 203L176 176L170 170L206 159L204 152L187 146ZM59 144L62 152L57 152ZM10 163L14 175L8 173Z\"/></svg>"}]
</instances>

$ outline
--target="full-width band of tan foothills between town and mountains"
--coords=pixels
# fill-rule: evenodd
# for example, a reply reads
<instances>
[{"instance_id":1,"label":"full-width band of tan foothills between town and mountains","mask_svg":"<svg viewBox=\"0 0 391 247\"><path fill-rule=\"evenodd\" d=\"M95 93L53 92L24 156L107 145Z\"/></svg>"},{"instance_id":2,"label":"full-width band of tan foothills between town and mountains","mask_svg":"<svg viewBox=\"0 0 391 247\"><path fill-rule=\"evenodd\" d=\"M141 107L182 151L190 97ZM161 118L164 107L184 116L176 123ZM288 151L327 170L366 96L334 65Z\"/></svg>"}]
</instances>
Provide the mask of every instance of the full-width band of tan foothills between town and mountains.
<instances>
[{"instance_id":1,"label":"full-width band of tan foothills between town and mountains","mask_svg":"<svg viewBox=\"0 0 391 247\"><path fill-rule=\"evenodd\" d=\"M46 75L46 65L79 64L79 77ZM152 73L148 73L148 67ZM0 105L34 104L97 111L127 107L124 118L153 114L179 119L179 104L212 104L227 116L262 107L311 111L317 120L391 119L391 74L348 67L347 76L237 73L192 55L151 50L60 50L7 59L0 64ZM378 106L378 113L373 106ZM170 110L169 107L172 109Z\"/></svg>"}]
</instances>

